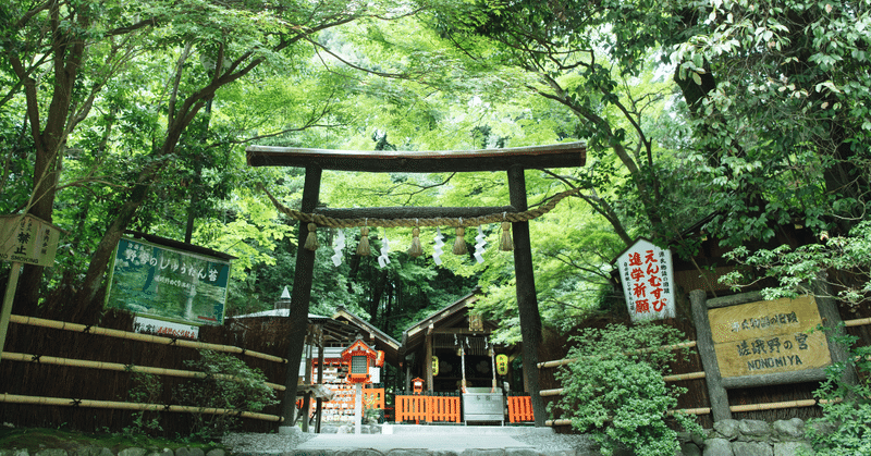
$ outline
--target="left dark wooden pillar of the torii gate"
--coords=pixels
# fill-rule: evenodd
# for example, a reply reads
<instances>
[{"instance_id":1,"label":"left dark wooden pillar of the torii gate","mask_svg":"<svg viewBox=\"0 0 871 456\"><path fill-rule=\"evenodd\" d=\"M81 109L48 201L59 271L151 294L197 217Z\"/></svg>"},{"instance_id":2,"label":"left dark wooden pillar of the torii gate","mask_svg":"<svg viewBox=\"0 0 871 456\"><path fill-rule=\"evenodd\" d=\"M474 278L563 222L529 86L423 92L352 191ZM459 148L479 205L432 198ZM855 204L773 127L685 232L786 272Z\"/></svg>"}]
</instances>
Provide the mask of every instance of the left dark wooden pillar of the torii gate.
<instances>
[{"instance_id":1,"label":"left dark wooden pillar of the torii gate","mask_svg":"<svg viewBox=\"0 0 871 456\"><path fill-rule=\"evenodd\" d=\"M318 205L320 195L320 177L322 170L316 167L306 168L306 180L303 186L303 212L311 212ZM287 345L287 371L284 380L284 400L281 416L285 426L292 426L296 412L296 383L299 377L299 361L303 358L306 332L308 330L308 305L311 299L311 278L315 273L315 252L303 247L308 236L308 226L299 222L299 238L296 244L296 271L291 292L291 333Z\"/></svg>"}]
</instances>

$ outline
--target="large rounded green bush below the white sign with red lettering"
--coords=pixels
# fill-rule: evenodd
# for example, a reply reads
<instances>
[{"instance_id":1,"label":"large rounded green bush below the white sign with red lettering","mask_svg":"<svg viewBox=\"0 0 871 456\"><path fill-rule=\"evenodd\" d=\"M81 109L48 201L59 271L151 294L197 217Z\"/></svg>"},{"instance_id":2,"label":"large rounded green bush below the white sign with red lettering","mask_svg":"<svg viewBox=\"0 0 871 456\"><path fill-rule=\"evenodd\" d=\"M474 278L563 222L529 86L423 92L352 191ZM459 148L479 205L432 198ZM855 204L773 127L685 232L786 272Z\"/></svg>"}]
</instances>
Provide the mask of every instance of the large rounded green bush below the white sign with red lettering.
<instances>
[{"instance_id":1,"label":"large rounded green bush below the white sign with red lettering","mask_svg":"<svg viewBox=\"0 0 871 456\"><path fill-rule=\"evenodd\" d=\"M662 347L686 342L683 334L657 324L611 324L586 329L569 342L568 357L576 360L556 373L564 389L556 403L563 416L556 418L569 418L574 429L592 434L602 454L626 447L639 456L674 455L677 432L666 420L686 389L665 384L662 377L677 353ZM673 419L701 432L695 418L675 414Z\"/></svg>"}]
</instances>

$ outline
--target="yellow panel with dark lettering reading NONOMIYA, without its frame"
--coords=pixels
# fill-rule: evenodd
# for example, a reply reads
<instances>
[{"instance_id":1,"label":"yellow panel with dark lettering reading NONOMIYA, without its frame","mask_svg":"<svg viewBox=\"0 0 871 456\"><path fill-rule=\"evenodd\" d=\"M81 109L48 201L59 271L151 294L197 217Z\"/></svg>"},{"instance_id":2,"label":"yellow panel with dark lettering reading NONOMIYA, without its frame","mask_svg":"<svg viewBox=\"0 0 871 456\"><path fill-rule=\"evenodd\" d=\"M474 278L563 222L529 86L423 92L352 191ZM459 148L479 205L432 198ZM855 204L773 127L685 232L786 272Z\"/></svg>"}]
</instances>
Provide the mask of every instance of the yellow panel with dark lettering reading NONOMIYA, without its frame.
<instances>
[{"instance_id":1,"label":"yellow panel with dark lettering reading NONOMIYA, without its frame","mask_svg":"<svg viewBox=\"0 0 871 456\"><path fill-rule=\"evenodd\" d=\"M793 372L831 363L812 297L710 309L714 352L723 378Z\"/></svg>"}]
</instances>

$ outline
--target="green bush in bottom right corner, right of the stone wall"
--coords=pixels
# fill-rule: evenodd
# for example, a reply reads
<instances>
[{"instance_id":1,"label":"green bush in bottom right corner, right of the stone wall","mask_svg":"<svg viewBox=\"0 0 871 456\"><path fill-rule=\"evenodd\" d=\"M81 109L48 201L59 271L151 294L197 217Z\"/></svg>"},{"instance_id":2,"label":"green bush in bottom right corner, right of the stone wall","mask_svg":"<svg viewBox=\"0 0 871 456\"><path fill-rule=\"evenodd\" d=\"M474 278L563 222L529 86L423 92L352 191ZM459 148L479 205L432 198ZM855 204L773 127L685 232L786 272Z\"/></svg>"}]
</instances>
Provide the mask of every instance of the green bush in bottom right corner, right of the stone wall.
<instances>
[{"instance_id":1,"label":"green bush in bottom right corner, right of the stone wall","mask_svg":"<svg viewBox=\"0 0 871 456\"><path fill-rule=\"evenodd\" d=\"M858 337L836 337L836 343L852 346ZM819 456L871 455L871 347L850 350L847 362L833 363L826 380L814 392L823 417L810 420L807 436ZM842 381L845 369L855 368L859 382ZM831 431L831 432L830 432Z\"/></svg>"}]
</instances>

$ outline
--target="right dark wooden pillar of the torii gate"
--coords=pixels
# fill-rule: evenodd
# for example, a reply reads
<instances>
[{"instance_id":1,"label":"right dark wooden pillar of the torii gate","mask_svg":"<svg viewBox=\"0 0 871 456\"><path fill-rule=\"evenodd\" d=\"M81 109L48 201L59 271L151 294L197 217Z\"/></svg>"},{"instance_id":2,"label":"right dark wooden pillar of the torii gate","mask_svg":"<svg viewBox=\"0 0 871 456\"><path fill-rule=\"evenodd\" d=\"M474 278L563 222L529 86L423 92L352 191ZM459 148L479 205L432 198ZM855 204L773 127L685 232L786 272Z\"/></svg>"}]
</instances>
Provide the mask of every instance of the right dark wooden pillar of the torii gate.
<instances>
[{"instance_id":1,"label":"right dark wooden pillar of the torii gate","mask_svg":"<svg viewBox=\"0 0 871 456\"><path fill-rule=\"evenodd\" d=\"M520 167L508 168L508 195L511 205L523 212L528 209L526 201L526 178ZM536 427L544 427L547 410L538 383L538 347L541 343L541 313L536 297L536 278L532 271L532 247L529 239L529 222L513 222L514 232L514 273L517 282L517 309L520 316L520 336L523 338L524 378L527 392L532 399Z\"/></svg>"}]
</instances>

